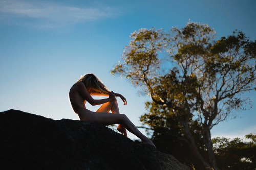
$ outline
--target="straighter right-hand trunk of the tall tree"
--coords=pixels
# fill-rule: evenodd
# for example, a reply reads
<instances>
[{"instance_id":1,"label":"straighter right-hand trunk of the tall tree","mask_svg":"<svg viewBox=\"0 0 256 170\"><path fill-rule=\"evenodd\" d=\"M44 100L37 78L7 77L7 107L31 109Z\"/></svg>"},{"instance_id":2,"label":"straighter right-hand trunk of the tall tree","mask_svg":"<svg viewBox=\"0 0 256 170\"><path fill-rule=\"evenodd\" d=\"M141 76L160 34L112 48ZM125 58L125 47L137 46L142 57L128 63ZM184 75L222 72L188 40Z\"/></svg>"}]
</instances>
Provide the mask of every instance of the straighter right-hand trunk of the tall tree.
<instances>
[{"instance_id":1,"label":"straighter right-hand trunk of the tall tree","mask_svg":"<svg viewBox=\"0 0 256 170\"><path fill-rule=\"evenodd\" d=\"M215 170L217 170L219 168L217 166L215 155L214 155L214 150L212 148L210 130L209 130L208 126L206 126L206 125L204 125L203 128L204 128L205 145L206 145L206 148L207 148L207 153L208 153L209 161L210 161L211 166Z\"/></svg>"}]
</instances>

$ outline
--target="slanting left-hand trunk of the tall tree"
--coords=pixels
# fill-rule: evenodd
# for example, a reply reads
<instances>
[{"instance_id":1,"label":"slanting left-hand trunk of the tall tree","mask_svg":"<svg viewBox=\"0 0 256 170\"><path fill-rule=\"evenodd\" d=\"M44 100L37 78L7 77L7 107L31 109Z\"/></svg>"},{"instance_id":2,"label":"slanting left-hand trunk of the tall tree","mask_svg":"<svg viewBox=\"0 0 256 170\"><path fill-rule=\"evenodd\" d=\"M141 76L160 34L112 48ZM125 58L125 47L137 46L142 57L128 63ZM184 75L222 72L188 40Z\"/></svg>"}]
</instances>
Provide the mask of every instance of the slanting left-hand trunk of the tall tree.
<instances>
[{"instance_id":1,"label":"slanting left-hand trunk of the tall tree","mask_svg":"<svg viewBox=\"0 0 256 170\"><path fill-rule=\"evenodd\" d=\"M195 142L192 134L189 131L189 127L188 127L187 123L181 121L181 124L183 125L184 130L185 130L185 135L188 138L188 141L190 142L189 147L190 147L191 151L201 161L202 165L205 166L206 169L208 169L210 167L210 165L205 161L205 159L199 153L197 146L196 146L196 142Z\"/></svg>"}]
</instances>

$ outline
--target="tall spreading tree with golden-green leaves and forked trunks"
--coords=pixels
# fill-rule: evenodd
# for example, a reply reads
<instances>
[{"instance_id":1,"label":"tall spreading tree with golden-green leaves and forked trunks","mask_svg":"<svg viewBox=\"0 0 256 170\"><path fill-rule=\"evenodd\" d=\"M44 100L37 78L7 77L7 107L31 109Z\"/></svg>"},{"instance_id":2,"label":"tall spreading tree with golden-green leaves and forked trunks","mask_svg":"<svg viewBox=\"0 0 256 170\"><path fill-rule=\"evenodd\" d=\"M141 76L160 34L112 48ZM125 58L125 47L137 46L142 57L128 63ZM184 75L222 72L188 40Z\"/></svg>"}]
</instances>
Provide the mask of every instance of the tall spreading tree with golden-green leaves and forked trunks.
<instances>
[{"instance_id":1,"label":"tall spreading tree with golden-green leaves and forked trunks","mask_svg":"<svg viewBox=\"0 0 256 170\"><path fill-rule=\"evenodd\" d=\"M214 29L197 22L168 32L140 29L131 38L111 73L151 96L142 123L154 129L174 115L193 154L217 169L210 130L249 101L240 94L255 89L256 41L238 31L217 40ZM152 117L156 120L148 122ZM208 160L199 152L192 122L202 128Z\"/></svg>"}]
</instances>

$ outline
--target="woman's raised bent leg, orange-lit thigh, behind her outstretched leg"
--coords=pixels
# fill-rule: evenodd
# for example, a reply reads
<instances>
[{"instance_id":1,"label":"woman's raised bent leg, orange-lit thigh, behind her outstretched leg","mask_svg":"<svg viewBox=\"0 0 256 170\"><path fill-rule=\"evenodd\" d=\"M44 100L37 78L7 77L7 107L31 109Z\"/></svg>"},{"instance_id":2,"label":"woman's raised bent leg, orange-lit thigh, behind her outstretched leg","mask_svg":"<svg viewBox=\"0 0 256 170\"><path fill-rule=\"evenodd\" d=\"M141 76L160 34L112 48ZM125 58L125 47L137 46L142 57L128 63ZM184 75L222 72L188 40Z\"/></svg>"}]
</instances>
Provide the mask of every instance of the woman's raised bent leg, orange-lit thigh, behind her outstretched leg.
<instances>
[{"instance_id":1,"label":"woman's raised bent leg, orange-lit thigh, behind her outstretched leg","mask_svg":"<svg viewBox=\"0 0 256 170\"><path fill-rule=\"evenodd\" d=\"M118 104L117 104L117 100L113 100L111 102L107 102L107 103L102 104L96 112L109 112L109 111L111 111L112 113L120 114ZM126 129L123 125L118 124L117 130L121 134L123 134L124 136L127 137Z\"/></svg>"}]
</instances>

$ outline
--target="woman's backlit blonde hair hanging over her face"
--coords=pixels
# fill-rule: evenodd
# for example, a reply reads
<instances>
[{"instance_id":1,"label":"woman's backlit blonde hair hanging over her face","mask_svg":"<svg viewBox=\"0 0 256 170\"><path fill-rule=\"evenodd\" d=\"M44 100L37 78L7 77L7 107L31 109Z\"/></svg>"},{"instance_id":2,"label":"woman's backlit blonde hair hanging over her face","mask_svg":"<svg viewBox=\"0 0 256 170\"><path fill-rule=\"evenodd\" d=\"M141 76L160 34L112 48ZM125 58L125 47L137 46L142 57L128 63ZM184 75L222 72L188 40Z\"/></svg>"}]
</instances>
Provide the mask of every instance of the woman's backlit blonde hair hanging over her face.
<instances>
[{"instance_id":1,"label":"woman's backlit blonde hair hanging over her face","mask_svg":"<svg viewBox=\"0 0 256 170\"><path fill-rule=\"evenodd\" d=\"M94 74L85 74L82 75L77 82L82 82L89 93L92 91L97 91L102 94L109 94L110 90L102 83L102 81L97 78ZM77 83L76 82L76 83Z\"/></svg>"}]
</instances>

